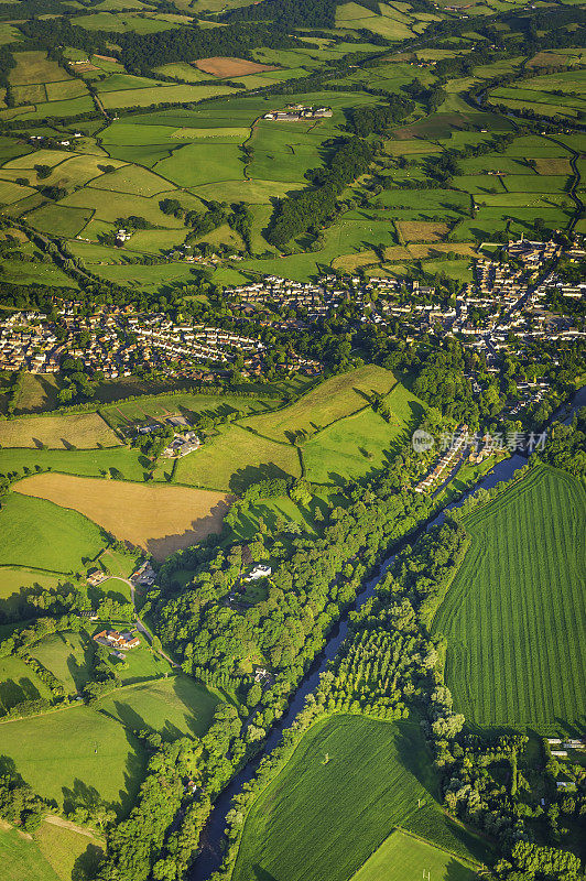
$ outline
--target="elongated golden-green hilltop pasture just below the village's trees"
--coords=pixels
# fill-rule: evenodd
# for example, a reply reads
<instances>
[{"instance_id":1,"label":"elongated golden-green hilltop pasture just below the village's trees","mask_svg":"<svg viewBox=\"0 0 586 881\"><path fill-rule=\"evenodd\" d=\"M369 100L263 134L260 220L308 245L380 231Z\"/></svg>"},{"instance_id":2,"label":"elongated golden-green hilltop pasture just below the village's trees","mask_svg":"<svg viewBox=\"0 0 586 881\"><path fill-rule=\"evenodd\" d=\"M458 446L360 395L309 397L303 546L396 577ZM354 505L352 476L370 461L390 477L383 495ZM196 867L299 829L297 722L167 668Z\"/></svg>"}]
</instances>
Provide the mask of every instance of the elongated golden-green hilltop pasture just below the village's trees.
<instances>
[{"instance_id":1,"label":"elongated golden-green hilltop pasture just below the village's trees","mask_svg":"<svg viewBox=\"0 0 586 881\"><path fill-rule=\"evenodd\" d=\"M242 425L273 440L287 442L297 431L304 429L314 434L319 428L355 413L368 403L371 392L387 393L395 382L389 370L366 365L319 383L316 389L284 410L251 416L243 420Z\"/></svg>"}]
</instances>

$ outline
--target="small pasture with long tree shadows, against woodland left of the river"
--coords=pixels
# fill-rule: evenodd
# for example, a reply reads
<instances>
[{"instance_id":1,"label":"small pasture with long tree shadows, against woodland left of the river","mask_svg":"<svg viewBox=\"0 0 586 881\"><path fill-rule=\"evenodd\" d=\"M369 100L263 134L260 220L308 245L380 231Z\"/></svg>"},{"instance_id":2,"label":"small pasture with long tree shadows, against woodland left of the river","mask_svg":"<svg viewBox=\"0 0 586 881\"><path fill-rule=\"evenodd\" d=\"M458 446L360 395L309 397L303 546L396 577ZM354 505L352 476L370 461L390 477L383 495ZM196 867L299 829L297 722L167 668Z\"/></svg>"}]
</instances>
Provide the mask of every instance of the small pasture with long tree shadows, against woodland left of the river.
<instances>
[{"instance_id":1,"label":"small pasture with long tree shadows, against woodland left of the river","mask_svg":"<svg viewBox=\"0 0 586 881\"><path fill-rule=\"evenodd\" d=\"M169 737L205 735L218 698L189 676L180 674L166 679L128 686L105 697L100 713L129 728L160 731Z\"/></svg>"}]
</instances>

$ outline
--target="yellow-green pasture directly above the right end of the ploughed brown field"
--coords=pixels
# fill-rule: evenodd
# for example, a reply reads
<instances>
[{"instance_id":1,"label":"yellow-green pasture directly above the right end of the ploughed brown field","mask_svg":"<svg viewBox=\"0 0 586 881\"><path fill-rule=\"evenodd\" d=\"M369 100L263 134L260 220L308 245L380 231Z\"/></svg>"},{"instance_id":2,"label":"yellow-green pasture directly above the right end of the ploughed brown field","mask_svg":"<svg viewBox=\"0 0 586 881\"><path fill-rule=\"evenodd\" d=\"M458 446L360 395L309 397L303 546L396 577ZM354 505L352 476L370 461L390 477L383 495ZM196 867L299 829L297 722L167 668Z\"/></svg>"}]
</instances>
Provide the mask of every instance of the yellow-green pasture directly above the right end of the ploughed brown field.
<instances>
[{"instance_id":1,"label":"yellow-green pasture directly above the right end of the ploughed brown field","mask_svg":"<svg viewBox=\"0 0 586 881\"><path fill-rule=\"evenodd\" d=\"M247 432L239 425L206 439L195 455L180 459L175 481L239 492L263 477L301 476L297 450Z\"/></svg>"}]
</instances>

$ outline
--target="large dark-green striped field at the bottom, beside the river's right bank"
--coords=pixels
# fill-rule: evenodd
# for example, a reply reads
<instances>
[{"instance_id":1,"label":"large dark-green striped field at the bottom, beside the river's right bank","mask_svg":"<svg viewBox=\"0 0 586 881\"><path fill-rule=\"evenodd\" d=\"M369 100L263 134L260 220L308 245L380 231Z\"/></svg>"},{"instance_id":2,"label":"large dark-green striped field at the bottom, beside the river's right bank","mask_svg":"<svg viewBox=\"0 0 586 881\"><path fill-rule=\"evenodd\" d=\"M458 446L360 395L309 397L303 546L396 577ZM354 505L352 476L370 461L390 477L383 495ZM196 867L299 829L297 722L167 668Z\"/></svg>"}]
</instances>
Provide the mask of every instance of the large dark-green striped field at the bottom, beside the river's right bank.
<instances>
[{"instance_id":1,"label":"large dark-green striped field at the bottom, beside the river's right bank","mask_svg":"<svg viewBox=\"0 0 586 881\"><path fill-rule=\"evenodd\" d=\"M417 721L322 720L254 803L234 881L346 881L397 825L469 856L475 842L451 827L435 795Z\"/></svg>"}]
</instances>

